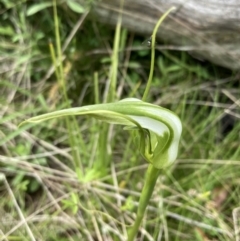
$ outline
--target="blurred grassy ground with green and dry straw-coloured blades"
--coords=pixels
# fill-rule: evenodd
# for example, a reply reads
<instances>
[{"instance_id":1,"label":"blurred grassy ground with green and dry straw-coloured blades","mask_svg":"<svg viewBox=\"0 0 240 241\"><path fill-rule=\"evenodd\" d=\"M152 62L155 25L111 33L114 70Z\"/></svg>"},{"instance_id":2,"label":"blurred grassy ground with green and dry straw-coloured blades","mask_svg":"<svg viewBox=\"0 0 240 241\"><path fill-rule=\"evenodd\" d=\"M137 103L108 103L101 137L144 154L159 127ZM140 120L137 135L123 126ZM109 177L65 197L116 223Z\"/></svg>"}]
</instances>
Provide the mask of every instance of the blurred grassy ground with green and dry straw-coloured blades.
<instances>
[{"instance_id":1,"label":"blurred grassy ground with green and dry straw-coloured blades","mask_svg":"<svg viewBox=\"0 0 240 241\"><path fill-rule=\"evenodd\" d=\"M81 117L18 125L105 102L114 78L113 100L141 98L151 59L145 38L122 29L116 62L115 30L85 19L80 5L61 4L55 14L48 3L0 5L0 240L125 240L147 168L129 133ZM238 73L156 51L148 101L177 113L183 135L136 240L234 240L239 87Z\"/></svg>"}]
</instances>

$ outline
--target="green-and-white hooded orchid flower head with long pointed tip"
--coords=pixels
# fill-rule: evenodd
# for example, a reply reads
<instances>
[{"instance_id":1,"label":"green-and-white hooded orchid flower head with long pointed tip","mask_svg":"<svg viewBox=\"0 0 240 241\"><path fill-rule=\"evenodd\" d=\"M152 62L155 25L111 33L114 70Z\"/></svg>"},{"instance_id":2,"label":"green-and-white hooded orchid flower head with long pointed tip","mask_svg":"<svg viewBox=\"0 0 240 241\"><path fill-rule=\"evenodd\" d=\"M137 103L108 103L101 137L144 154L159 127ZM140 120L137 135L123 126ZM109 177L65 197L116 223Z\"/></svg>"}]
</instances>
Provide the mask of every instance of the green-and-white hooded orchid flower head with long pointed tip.
<instances>
[{"instance_id":1,"label":"green-and-white hooded orchid flower head with long pointed tip","mask_svg":"<svg viewBox=\"0 0 240 241\"><path fill-rule=\"evenodd\" d=\"M88 115L111 124L125 125L125 129L134 131L142 156L157 169L165 168L177 158L182 132L179 118L165 108L136 98L59 110L23 123L38 123L70 115Z\"/></svg>"}]
</instances>

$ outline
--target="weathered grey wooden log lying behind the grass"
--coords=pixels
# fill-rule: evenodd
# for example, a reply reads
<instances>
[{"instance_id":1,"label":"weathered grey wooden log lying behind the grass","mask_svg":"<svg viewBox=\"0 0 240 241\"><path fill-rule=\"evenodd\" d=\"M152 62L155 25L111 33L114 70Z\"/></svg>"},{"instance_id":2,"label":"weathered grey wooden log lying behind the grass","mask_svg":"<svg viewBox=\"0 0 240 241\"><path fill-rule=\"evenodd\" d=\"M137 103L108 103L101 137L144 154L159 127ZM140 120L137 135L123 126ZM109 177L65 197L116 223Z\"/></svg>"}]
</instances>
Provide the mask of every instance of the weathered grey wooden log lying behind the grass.
<instances>
[{"instance_id":1,"label":"weathered grey wooden log lying behind the grass","mask_svg":"<svg viewBox=\"0 0 240 241\"><path fill-rule=\"evenodd\" d=\"M240 67L239 0L125 0L124 27L151 35L159 17L175 6L158 32L158 38L193 52L213 63ZM120 0L102 0L93 8L98 19L116 24Z\"/></svg>"}]
</instances>

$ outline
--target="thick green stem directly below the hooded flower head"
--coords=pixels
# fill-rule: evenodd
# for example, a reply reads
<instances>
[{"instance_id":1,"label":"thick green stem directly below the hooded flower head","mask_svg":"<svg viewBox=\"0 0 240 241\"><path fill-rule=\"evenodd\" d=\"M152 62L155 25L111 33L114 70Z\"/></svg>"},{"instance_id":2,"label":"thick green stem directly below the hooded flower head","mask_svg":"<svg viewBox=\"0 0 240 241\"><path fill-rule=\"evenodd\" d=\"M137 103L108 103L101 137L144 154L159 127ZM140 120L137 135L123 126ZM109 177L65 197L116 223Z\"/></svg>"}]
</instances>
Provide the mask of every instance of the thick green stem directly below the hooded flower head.
<instances>
[{"instance_id":1,"label":"thick green stem directly below the hooded flower head","mask_svg":"<svg viewBox=\"0 0 240 241\"><path fill-rule=\"evenodd\" d=\"M145 210L152 196L153 189L155 187L160 171L161 170L156 169L151 164L148 166L145 184L138 204L137 217L135 219L134 225L130 228L128 232L128 241L133 241L135 236L137 235L139 226L142 222Z\"/></svg>"}]
</instances>

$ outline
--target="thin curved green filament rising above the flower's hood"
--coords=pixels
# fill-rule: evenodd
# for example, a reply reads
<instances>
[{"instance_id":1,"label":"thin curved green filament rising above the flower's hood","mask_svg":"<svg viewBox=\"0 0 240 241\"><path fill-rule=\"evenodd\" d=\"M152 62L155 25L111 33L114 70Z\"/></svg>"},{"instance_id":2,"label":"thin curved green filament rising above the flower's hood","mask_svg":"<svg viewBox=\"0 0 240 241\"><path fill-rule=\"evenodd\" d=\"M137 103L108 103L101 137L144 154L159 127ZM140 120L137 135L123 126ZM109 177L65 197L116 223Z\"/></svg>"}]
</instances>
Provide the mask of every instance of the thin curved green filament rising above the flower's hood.
<instances>
[{"instance_id":1,"label":"thin curved green filament rising above the flower's hood","mask_svg":"<svg viewBox=\"0 0 240 241\"><path fill-rule=\"evenodd\" d=\"M151 52L151 67L150 67L150 73L149 73L149 77L148 77L148 82L147 82L147 86L146 89L144 91L143 94L143 101L146 101L151 84L152 84L152 77L153 77L153 70L154 70L154 62L155 62L155 39L156 39L156 35L157 35L157 31L161 25L161 23L163 22L163 20L168 16L168 14L170 12L172 12L173 10L175 10L175 7L171 7L170 9L168 9L167 12L165 12L162 17L158 20L154 30L153 30L153 34L152 34L152 44L151 44L151 48L152 48L152 52Z\"/></svg>"}]
</instances>

